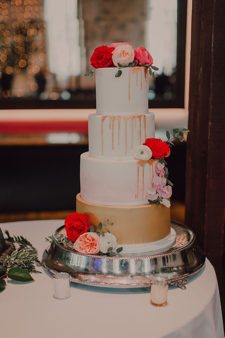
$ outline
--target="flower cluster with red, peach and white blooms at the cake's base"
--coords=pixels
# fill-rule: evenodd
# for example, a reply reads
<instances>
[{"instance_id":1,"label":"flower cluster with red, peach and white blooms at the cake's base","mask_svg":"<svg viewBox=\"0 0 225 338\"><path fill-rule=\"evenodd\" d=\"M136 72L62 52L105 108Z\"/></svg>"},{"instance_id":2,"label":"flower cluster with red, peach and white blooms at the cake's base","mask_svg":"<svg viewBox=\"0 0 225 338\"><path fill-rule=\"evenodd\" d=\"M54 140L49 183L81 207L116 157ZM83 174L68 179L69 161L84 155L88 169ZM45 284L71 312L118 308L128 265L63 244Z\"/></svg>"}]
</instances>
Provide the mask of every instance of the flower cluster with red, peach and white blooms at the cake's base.
<instances>
[{"instance_id":1,"label":"flower cluster with red, peach and white blooms at the cake's base","mask_svg":"<svg viewBox=\"0 0 225 338\"><path fill-rule=\"evenodd\" d=\"M112 226L113 223L102 224L99 223L97 230L93 225L87 221L87 215L75 212L70 214L65 219L66 236L62 234L57 236L57 241L61 244L65 242L66 245L72 243L76 251L81 254L106 254L108 256L118 255L122 251L122 247L117 248L116 237L110 233L107 226ZM102 230L106 230L104 233ZM57 234L56 234L57 235ZM49 236L53 241L56 239L54 236ZM46 241L50 241L46 238ZM116 250L116 251L113 251Z\"/></svg>"}]
</instances>

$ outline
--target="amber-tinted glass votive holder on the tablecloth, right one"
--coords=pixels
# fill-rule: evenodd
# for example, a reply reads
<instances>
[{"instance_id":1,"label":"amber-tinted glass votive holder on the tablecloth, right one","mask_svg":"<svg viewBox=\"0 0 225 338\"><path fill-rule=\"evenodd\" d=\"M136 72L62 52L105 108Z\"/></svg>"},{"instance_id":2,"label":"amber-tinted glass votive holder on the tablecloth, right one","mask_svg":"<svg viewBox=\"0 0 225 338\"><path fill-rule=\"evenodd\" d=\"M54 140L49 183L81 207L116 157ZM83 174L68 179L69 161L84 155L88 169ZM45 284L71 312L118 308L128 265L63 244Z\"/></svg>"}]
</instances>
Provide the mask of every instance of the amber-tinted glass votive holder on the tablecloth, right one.
<instances>
[{"instance_id":1,"label":"amber-tinted glass votive holder on the tablecloth, right one","mask_svg":"<svg viewBox=\"0 0 225 338\"><path fill-rule=\"evenodd\" d=\"M150 281L150 286L150 303L155 306L166 305L168 281L165 278L156 277Z\"/></svg>"}]
</instances>

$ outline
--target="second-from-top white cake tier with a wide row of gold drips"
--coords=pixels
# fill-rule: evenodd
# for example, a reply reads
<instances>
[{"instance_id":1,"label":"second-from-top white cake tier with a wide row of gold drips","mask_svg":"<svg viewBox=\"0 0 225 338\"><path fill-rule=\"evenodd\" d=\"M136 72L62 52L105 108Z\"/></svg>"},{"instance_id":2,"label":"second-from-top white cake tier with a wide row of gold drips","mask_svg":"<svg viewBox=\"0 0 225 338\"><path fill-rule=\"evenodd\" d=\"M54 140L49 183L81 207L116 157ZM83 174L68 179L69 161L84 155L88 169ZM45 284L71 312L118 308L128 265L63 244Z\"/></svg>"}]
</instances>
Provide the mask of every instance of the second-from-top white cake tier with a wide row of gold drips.
<instances>
[{"instance_id":1,"label":"second-from-top white cake tier with a wide row of gold drips","mask_svg":"<svg viewBox=\"0 0 225 338\"><path fill-rule=\"evenodd\" d=\"M135 149L154 135L153 113L130 116L90 114L88 117L89 156L94 158L135 159Z\"/></svg>"}]
</instances>

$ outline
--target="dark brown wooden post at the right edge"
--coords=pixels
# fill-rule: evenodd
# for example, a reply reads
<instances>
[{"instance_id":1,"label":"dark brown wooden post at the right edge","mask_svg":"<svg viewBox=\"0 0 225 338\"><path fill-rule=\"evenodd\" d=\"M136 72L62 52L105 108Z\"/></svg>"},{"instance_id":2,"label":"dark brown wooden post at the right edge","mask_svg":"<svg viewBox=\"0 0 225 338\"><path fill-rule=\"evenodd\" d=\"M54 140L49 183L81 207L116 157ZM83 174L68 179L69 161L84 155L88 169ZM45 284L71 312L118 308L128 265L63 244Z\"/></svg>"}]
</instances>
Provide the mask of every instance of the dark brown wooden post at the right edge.
<instances>
[{"instance_id":1,"label":"dark brown wooden post at the right edge","mask_svg":"<svg viewBox=\"0 0 225 338\"><path fill-rule=\"evenodd\" d=\"M220 284L225 204L224 0L193 0L186 225Z\"/></svg>"}]
</instances>

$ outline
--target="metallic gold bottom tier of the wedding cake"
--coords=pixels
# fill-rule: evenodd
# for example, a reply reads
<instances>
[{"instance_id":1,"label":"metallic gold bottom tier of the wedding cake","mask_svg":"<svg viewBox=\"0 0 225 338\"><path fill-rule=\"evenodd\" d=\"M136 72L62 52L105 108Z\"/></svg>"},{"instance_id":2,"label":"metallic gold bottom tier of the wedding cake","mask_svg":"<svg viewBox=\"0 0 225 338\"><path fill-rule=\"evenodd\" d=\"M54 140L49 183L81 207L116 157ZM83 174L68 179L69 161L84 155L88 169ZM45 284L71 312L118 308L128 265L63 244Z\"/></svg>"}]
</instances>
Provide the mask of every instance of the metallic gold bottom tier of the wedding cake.
<instances>
[{"instance_id":1,"label":"metallic gold bottom tier of the wedding cake","mask_svg":"<svg viewBox=\"0 0 225 338\"><path fill-rule=\"evenodd\" d=\"M156 242L170 234L170 208L164 205L105 206L86 202L79 193L76 211L87 215L95 229L100 222L107 224L107 219L113 222L108 228L118 245Z\"/></svg>"}]
</instances>

